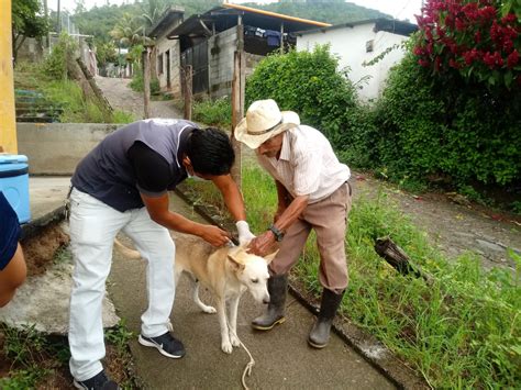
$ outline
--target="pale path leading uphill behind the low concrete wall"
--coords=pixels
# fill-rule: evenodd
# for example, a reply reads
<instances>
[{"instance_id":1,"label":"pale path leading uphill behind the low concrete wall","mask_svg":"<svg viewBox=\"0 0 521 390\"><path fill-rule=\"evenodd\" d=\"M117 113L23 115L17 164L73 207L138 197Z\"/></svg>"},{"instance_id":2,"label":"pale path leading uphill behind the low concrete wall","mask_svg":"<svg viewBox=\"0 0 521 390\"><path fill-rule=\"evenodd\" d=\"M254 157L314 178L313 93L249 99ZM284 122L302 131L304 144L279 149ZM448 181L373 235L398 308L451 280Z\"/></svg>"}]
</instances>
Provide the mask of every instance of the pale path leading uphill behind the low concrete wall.
<instances>
[{"instance_id":1,"label":"pale path leading uphill behind the low concrete wall","mask_svg":"<svg viewBox=\"0 0 521 390\"><path fill-rule=\"evenodd\" d=\"M133 91L129 83L131 79L114 77L96 77L98 87L114 110L132 112L136 120L143 119L143 93ZM151 101L152 118L182 118L182 114L169 100Z\"/></svg>"}]
</instances>

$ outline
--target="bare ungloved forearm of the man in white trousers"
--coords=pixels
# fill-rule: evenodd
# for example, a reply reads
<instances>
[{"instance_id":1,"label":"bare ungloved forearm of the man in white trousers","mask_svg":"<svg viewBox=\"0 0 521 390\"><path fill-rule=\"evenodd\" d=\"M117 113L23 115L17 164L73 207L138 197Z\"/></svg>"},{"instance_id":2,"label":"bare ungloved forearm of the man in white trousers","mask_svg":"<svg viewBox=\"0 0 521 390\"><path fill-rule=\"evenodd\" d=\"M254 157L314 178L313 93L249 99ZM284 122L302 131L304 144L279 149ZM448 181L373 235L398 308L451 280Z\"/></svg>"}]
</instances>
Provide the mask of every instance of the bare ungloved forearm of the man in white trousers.
<instances>
[{"instance_id":1,"label":"bare ungloved forearm of the man in white trousers","mask_svg":"<svg viewBox=\"0 0 521 390\"><path fill-rule=\"evenodd\" d=\"M193 222L180 214L169 211L168 193L164 193L159 197L147 197L142 193L141 198L145 203L151 219L162 226L173 231L197 235L213 246L222 246L230 242L229 233L218 226Z\"/></svg>"}]
</instances>

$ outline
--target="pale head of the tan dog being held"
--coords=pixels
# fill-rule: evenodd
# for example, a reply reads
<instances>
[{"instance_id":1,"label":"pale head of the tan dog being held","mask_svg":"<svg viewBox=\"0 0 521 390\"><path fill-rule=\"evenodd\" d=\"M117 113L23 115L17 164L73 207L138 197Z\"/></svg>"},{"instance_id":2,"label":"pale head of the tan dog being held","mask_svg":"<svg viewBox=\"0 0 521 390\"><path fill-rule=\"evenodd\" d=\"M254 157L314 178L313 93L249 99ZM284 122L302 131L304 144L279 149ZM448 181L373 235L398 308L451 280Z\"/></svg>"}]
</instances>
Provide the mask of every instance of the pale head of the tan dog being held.
<instances>
[{"instance_id":1,"label":"pale head of the tan dog being held","mask_svg":"<svg viewBox=\"0 0 521 390\"><path fill-rule=\"evenodd\" d=\"M229 263L237 277L255 301L269 303L268 292L268 264L274 259L277 252L265 256L248 254L244 247L237 247L228 254Z\"/></svg>"}]
</instances>

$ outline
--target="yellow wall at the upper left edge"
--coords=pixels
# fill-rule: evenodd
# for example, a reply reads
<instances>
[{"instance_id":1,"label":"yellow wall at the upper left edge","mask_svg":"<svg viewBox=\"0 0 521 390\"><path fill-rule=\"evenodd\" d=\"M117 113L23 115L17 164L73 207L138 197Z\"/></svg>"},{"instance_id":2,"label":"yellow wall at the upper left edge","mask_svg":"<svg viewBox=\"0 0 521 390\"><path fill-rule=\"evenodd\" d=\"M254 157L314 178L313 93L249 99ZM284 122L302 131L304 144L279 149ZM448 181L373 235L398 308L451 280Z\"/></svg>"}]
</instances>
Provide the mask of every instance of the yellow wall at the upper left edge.
<instances>
[{"instance_id":1,"label":"yellow wall at the upper left edge","mask_svg":"<svg viewBox=\"0 0 521 390\"><path fill-rule=\"evenodd\" d=\"M11 46L11 0L0 0L0 146L18 153Z\"/></svg>"}]
</instances>

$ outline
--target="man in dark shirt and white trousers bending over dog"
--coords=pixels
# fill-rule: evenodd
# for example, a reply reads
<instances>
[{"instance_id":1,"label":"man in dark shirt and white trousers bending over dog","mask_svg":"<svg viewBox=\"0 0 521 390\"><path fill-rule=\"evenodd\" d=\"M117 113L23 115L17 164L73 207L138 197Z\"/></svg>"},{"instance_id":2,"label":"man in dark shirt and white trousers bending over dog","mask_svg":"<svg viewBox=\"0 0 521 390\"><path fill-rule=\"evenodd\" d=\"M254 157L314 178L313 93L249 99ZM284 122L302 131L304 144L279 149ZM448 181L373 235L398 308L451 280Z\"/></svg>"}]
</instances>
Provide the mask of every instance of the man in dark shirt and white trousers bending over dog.
<instances>
[{"instance_id":1,"label":"man in dark shirt and white trousers bending over dog","mask_svg":"<svg viewBox=\"0 0 521 390\"><path fill-rule=\"evenodd\" d=\"M100 359L104 356L101 302L110 271L112 244L123 231L147 261L148 308L140 344L166 357L185 355L170 334L175 243L168 230L197 235L213 246L230 233L169 211L168 191L188 176L211 180L235 219L240 242L253 238L244 203L230 169L230 138L184 120L145 120L108 135L78 165L70 194L70 243L75 259L70 298L70 371L82 389L115 389Z\"/></svg>"}]
</instances>

